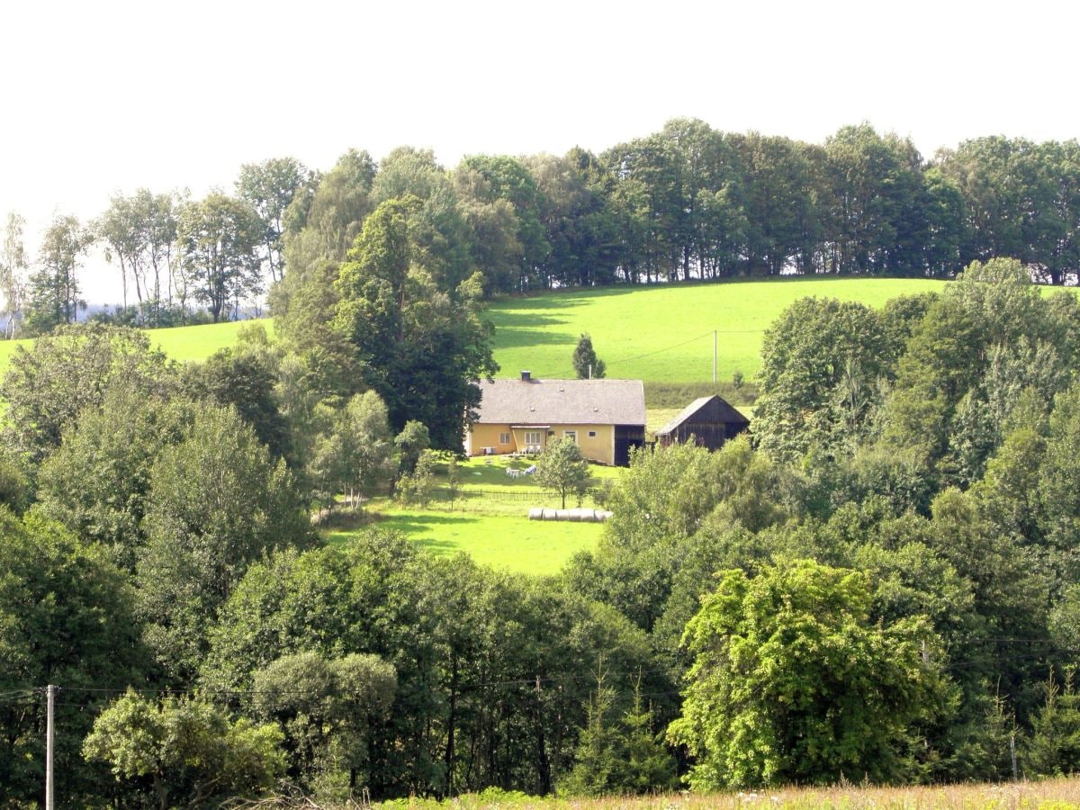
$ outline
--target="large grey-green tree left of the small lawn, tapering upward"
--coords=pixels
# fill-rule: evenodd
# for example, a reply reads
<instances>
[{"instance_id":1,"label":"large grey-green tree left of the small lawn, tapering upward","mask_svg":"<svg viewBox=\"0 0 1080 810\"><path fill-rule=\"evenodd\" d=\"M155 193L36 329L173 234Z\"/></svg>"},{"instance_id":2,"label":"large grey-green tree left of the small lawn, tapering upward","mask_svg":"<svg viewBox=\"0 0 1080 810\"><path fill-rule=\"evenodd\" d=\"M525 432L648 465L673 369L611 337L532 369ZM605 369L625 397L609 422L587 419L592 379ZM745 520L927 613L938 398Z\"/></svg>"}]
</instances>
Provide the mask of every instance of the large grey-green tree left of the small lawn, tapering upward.
<instances>
[{"instance_id":1,"label":"large grey-green tree left of the small lawn, tapering upward","mask_svg":"<svg viewBox=\"0 0 1080 810\"><path fill-rule=\"evenodd\" d=\"M161 451L137 580L147 638L173 677L191 676L206 626L251 562L310 541L302 507L284 461L233 408L203 409Z\"/></svg>"}]
</instances>

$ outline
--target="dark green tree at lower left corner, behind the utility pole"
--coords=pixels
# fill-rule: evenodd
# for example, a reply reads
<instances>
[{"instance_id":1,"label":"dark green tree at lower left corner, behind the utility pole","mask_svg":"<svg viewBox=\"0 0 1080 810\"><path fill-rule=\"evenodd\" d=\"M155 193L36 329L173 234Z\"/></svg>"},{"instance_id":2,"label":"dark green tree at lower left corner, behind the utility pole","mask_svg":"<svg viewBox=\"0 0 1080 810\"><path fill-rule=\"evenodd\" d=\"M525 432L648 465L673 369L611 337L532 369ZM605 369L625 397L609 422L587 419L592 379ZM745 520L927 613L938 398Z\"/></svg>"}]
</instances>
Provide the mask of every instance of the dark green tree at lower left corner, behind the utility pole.
<instances>
[{"instance_id":1,"label":"dark green tree at lower left corner, behind the utility pole","mask_svg":"<svg viewBox=\"0 0 1080 810\"><path fill-rule=\"evenodd\" d=\"M79 756L107 691L147 670L135 594L97 546L38 516L0 509L0 804L40 800L45 701L39 687L69 691L56 707L56 793L91 802L107 785Z\"/></svg>"}]
</instances>

